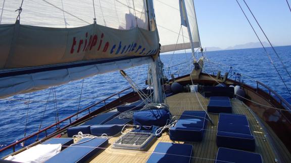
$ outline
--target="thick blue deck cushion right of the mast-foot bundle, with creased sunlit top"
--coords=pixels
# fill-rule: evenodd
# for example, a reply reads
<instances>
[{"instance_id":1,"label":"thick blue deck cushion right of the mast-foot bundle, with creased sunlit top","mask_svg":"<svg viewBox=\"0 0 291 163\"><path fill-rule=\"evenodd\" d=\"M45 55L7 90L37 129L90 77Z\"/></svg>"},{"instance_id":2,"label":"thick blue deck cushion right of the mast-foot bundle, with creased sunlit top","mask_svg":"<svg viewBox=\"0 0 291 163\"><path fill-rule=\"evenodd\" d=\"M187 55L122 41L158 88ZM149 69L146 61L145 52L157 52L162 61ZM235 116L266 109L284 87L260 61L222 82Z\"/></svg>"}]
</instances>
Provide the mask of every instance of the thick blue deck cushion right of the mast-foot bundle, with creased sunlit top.
<instances>
[{"instance_id":1,"label":"thick blue deck cushion right of the mast-foot bundle, with creased sunlit top","mask_svg":"<svg viewBox=\"0 0 291 163\"><path fill-rule=\"evenodd\" d=\"M176 125L169 129L170 139L174 141L202 141L207 122L205 111L184 111Z\"/></svg>"}]
</instances>

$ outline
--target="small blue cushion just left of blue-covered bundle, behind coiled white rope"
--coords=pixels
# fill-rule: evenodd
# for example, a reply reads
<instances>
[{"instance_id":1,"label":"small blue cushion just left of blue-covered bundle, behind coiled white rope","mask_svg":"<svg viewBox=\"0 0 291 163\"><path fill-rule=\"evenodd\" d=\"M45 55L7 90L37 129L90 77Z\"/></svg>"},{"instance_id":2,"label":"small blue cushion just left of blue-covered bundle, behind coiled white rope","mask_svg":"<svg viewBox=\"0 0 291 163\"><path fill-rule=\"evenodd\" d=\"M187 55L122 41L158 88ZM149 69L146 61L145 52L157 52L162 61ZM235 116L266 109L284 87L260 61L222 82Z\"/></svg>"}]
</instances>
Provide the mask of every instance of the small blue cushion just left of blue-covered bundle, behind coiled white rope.
<instances>
[{"instance_id":1,"label":"small blue cushion just left of blue-covered bundle, behind coiled white rope","mask_svg":"<svg viewBox=\"0 0 291 163\"><path fill-rule=\"evenodd\" d=\"M95 136L101 136L107 134L108 136L114 136L121 132L123 125L92 125L90 127L91 134Z\"/></svg>"}]
</instances>

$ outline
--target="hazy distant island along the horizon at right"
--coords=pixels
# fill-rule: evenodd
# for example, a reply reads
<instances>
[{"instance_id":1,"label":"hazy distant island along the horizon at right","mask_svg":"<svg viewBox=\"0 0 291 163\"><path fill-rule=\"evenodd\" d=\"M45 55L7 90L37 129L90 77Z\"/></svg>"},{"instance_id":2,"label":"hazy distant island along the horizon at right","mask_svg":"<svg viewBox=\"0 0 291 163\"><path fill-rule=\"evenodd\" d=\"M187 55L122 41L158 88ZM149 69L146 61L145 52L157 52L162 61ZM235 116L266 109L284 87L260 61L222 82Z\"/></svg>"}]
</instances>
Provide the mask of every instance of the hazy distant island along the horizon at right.
<instances>
[{"instance_id":1,"label":"hazy distant island along the horizon at right","mask_svg":"<svg viewBox=\"0 0 291 163\"><path fill-rule=\"evenodd\" d=\"M267 42L262 42L265 47L270 47L270 44ZM276 46L276 45L273 45ZM219 47L206 47L207 51L218 51L218 50L234 50L234 49L249 49L249 48L261 48L262 45L260 42L250 42L246 44L229 46L225 49L221 49Z\"/></svg>"}]
</instances>

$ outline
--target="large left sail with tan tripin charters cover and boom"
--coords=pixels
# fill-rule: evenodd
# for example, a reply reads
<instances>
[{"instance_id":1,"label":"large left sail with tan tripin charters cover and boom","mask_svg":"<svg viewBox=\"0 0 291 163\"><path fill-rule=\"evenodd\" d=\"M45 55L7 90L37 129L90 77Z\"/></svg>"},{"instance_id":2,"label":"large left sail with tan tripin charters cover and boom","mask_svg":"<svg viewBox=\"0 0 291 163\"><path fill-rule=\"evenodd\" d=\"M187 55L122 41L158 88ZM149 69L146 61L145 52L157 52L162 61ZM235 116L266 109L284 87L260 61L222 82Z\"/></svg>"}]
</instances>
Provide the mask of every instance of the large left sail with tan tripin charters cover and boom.
<instances>
[{"instance_id":1,"label":"large left sail with tan tripin charters cover and boom","mask_svg":"<svg viewBox=\"0 0 291 163\"><path fill-rule=\"evenodd\" d=\"M149 30L145 0L95 3L24 1L18 15L21 1L5 1L0 6L0 98L153 60L159 38Z\"/></svg>"}]
</instances>

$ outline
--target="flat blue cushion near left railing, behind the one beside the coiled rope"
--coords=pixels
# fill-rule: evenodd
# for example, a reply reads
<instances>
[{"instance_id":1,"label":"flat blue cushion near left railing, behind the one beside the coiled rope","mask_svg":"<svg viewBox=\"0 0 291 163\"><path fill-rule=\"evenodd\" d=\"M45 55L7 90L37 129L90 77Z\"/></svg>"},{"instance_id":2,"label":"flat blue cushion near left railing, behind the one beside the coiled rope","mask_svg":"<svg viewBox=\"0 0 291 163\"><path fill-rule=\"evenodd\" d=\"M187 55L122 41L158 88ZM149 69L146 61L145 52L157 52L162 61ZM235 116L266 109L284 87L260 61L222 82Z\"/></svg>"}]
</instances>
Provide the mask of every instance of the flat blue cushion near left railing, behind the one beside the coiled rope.
<instances>
[{"instance_id":1,"label":"flat blue cushion near left railing, behind the one beside the coiled rope","mask_svg":"<svg viewBox=\"0 0 291 163\"><path fill-rule=\"evenodd\" d=\"M99 125L104 124L107 121L111 120L112 118L116 117L119 113L118 112L108 112L108 113L102 113L98 116L88 120L82 125Z\"/></svg>"}]
</instances>

